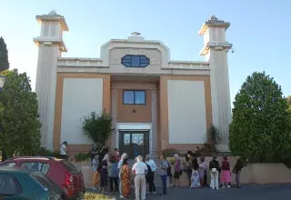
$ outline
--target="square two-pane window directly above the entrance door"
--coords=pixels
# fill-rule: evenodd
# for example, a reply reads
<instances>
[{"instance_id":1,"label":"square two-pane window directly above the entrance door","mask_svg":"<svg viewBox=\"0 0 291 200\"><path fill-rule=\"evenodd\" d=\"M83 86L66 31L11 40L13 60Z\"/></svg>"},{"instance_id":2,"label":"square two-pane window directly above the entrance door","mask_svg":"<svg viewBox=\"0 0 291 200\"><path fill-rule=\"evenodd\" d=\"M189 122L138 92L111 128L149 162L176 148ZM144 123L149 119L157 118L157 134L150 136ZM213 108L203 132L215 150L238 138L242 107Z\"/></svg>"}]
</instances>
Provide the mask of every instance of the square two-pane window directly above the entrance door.
<instances>
[{"instance_id":1,"label":"square two-pane window directly above the entrance door","mask_svg":"<svg viewBox=\"0 0 291 200\"><path fill-rule=\"evenodd\" d=\"M124 90L124 105L146 105L146 91Z\"/></svg>"}]
</instances>

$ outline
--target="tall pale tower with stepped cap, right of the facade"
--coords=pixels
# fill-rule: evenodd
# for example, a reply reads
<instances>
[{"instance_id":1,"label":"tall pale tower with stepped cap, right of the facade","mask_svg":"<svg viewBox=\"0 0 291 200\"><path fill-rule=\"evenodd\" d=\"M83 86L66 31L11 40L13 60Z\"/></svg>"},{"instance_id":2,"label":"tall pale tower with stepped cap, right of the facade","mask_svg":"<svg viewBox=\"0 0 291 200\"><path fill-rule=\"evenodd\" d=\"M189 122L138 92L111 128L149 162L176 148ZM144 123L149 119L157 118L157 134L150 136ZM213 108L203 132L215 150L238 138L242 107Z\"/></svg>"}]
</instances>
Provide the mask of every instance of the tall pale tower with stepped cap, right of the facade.
<instances>
[{"instance_id":1,"label":"tall pale tower with stepped cap, right of the facade","mask_svg":"<svg viewBox=\"0 0 291 200\"><path fill-rule=\"evenodd\" d=\"M217 147L222 152L229 151L228 125L231 122L227 52L232 45L226 42L229 25L213 15L199 31L199 35L204 35L204 47L200 55L205 55L210 65L213 125L220 131L222 140Z\"/></svg>"}]
</instances>

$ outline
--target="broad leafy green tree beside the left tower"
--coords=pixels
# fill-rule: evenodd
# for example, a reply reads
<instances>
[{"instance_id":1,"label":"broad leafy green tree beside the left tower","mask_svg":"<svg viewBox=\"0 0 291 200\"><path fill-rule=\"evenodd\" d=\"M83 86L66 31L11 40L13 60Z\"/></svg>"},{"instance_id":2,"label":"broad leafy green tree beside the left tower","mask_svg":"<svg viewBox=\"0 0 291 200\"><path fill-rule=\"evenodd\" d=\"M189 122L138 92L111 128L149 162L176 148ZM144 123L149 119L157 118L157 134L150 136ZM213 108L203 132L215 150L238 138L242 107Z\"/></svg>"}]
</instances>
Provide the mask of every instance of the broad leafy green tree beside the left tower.
<instances>
[{"instance_id":1,"label":"broad leafy green tree beside the left tower","mask_svg":"<svg viewBox=\"0 0 291 200\"><path fill-rule=\"evenodd\" d=\"M0 118L0 146L5 155L15 152L34 155L40 148L40 127L38 103L32 92L29 77L18 71L3 71L6 81L0 92L2 117Z\"/></svg>"}]
</instances>

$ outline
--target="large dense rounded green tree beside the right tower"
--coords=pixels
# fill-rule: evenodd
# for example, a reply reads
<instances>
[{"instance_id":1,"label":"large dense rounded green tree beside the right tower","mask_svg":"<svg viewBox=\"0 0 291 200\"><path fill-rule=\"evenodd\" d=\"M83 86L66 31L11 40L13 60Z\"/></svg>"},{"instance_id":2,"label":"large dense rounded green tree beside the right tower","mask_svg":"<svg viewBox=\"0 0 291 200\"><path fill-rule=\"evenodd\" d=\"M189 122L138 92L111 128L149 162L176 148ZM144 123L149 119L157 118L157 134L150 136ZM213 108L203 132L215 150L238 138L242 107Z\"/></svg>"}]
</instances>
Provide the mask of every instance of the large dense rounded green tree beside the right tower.
<instances>
[{"instance_id":1,"label":"large dense rounded green tree beside the right tower","mask_svg":"<svg viewBox=\"0 0 291 200\"><path fill-rule=\"evenodd\" d=\"M247 76L234 102L230 150L253 162L282 162L291 151L290 119L275 80L265 72Z\"/></svg>"}]
</instances>

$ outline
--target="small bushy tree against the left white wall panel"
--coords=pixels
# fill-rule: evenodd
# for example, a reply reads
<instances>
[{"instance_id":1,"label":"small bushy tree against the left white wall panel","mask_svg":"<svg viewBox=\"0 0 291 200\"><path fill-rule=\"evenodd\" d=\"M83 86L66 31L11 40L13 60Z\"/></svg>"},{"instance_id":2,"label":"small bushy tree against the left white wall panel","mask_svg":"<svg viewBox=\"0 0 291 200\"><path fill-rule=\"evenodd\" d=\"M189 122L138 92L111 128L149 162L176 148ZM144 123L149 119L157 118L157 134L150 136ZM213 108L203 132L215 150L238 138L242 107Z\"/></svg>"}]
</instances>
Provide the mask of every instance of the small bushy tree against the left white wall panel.
<instances>
[{"instance_id":1,"label":"small bushy tree against the left white wall panel","mask_svg":"<svg viewBox=\"0 0 291 200\"><path fill-rule=\"evenodd\" d=\"M97 115L92 112L82 120L82 130L97 145L105 145L107 139L115 130L112 128L112 118L105 112Z\"/></svg>"}]
</instances>

